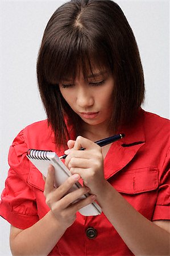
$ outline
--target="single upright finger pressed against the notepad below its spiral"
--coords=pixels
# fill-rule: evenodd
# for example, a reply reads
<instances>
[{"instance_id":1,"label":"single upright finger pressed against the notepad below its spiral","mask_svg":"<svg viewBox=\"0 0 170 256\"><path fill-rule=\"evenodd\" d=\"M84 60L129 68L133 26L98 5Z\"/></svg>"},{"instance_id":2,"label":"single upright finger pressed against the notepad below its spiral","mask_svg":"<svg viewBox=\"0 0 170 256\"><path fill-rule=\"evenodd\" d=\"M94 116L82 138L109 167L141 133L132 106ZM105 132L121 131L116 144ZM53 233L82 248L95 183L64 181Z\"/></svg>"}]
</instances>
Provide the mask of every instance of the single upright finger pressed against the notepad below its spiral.
<instances>
[{"instance_id":1,"label":"single upright finger pressed against the notepad below its spiral","mask_svg":"<svg viewBox=\"0 0 170 256\"><path fill-rule=\"evenodd\" d=\"M52 164L48 167L48 173L45 180L44 194L50 193L54 189L54 180L55 180L55 169Z\"/></svg>"}]
</instances>

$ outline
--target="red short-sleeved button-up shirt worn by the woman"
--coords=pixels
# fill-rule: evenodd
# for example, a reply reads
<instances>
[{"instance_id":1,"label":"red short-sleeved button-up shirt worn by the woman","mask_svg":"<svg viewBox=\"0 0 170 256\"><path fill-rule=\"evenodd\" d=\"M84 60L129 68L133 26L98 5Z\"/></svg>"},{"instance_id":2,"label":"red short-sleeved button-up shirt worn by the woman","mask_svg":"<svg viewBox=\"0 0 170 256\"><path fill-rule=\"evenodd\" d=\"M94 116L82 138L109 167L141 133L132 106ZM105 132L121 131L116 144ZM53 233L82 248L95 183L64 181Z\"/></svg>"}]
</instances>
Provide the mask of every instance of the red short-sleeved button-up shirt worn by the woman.
<instances>
[{"instance_id":1,"label":"red short-sleeved button-up shirt worn by the woman","mask_svg":"<svg viewBox=\"0 0 170 256\"><path fill-rule=\"evenodd\" d=\"M106 155L105 178L148 220L169 220L169 121L140 110L131 126L120 133L125 138L113 143ZM72 138L74 139L73 135ZM59 151L47 120L20 131L9 151L9 175L2 192L0 214L20 229L34 225L49 210L43 195L42 175L26 158L28 148ZM126 216L125 216L126 217ZM86 237L87 228L97 237ZM84 217L77 213L74 224L49 255L132 255L102 213Z\"/></svg>"}]
</instances>

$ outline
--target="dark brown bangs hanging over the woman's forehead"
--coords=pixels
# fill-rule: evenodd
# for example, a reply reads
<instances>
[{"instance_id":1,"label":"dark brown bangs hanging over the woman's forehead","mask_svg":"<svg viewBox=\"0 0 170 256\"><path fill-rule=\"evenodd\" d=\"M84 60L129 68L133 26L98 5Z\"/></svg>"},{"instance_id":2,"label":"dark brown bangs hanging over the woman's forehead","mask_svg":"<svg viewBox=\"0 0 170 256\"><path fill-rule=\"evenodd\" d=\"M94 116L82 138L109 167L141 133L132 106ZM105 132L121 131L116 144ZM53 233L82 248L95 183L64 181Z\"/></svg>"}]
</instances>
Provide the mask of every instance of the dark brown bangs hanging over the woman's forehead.
<instances>
[{"instance_id":1,"label":"dark brown bangs hanging over the woman's forehead","mask_svg":"<svg viewBox=\"0 0 170 256\"><path fill-rule=\"evenodd\" d=\"M56 38L58 38L56 36ZM63 39L50 42L43 56L43 73L48 84L74 81L82 72L84 79L93 76L94 69L111 72L109 56L95 40L81 31L68 31Z\"/></svg>"}]
</instances>

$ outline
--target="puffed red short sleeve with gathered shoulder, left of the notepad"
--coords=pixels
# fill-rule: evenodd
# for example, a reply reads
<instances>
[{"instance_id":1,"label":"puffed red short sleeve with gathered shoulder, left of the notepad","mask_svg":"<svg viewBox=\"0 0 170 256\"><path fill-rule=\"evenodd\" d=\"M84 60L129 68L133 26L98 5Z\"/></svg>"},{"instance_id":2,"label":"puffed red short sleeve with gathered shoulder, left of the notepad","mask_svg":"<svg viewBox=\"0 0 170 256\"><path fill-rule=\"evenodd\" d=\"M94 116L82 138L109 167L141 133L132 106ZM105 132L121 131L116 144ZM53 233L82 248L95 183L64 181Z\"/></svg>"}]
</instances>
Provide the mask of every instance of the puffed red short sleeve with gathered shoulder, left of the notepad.
<instances>
[{"instance_id":1,"label":"puffed red short sleeve with gathered shoulder, left of the notepad","mask_svg":"<svg viewBox=\"0 0 170 256\"><path fill-rule=\"evenodd\" d=\"M27 144L22 130L10 147L10 170L0 202L1 216L20 229L28 228L39 220L34 191L27 183L30 166L26 154Z\"/></svg>"}]
</instances>

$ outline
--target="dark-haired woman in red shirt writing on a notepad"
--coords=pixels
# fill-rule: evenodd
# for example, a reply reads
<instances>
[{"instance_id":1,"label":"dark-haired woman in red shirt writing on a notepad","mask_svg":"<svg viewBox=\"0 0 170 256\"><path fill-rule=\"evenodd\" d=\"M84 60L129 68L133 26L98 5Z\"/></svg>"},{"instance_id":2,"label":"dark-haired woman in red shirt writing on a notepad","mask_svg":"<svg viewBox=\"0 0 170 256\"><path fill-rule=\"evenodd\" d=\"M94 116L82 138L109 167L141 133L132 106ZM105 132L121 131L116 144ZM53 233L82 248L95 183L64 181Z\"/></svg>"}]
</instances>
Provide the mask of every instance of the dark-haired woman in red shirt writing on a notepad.
<instances>
[{"instance_id":1,"label":"dark-haired woman in red shirt writing on a notepad","mask_svg":"<svg viewBox=\"0 0 170 256\"><path fill-rule=\"evenodd\" d=\"M57 9L37 73L48 119L20 131L10 147L0 207L11 223L12 253L168 255L169 121L140 108L142 65L119 6L75 0ZM125 138L94 143L115 133ZM73 175L55 189L53 167L44 181L28 148L67 154ZM80 177L84 187L65 195ZM92 195L72 204L86 192ZM77 212L94 200L101 215Z\"/></svg>"}]
</instances>

